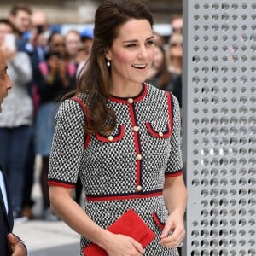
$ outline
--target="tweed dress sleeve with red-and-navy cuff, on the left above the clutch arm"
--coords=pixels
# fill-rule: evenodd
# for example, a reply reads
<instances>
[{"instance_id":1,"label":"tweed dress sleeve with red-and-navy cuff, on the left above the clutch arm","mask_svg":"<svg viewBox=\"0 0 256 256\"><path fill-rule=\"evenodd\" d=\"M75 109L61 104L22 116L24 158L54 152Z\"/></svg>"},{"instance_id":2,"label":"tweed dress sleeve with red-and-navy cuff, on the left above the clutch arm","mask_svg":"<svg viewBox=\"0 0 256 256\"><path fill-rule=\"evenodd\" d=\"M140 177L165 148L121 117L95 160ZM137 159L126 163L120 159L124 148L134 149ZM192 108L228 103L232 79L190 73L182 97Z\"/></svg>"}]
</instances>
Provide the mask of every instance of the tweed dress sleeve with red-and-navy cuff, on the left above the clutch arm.
<instances>
[{"instance_id":1,"label":"tweed dress sleeve with red-and-navy cuff, on the left above the clutch arm","mask_svg":"<svg viewBox=\"0 0 256 256\"><path fill-rule=\"evenodd\" d=\"M61 103L55 118L55 134L49 159L49 185L73 188L84 151L84 112L79 103Z\"/></svg>"}]
</instances>

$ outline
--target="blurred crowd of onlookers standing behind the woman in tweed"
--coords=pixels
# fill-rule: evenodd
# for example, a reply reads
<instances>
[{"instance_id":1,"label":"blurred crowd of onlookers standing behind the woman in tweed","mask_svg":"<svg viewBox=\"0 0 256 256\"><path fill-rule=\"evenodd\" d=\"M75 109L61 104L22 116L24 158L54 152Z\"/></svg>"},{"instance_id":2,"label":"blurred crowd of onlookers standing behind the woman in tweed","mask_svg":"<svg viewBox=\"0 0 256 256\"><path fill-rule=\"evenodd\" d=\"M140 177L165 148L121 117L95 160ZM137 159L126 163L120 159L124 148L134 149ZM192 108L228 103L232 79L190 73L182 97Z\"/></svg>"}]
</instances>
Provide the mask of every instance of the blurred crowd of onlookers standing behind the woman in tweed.
<instances>
[{"instance_id":1,"label":"blurred crowd of onlookers standing behind the woman in tweed","mask_svg":"<svg viewBox=\"0 0 256 256\"><path fill-rule=\"evenodd\" d=\"M182 107L182 15L174 15L170 26L168 42L154 32L154 61L146 81L161 90L172 91ZM6 40L7 35L15 36L14 46ZM87 28L62 34L51 29L44 12L23 4L14 5L9 16L0 19L0 49L14 84L0 115L0 163L9 177L15 220L33 218L36 155L42 157L42 219L59 219L50 210L47 183L55 116L61 97L77 88L92 42L93 32ZM78 180L74 195L77 202L81 191Z\"/></svg>"}]
</instances>

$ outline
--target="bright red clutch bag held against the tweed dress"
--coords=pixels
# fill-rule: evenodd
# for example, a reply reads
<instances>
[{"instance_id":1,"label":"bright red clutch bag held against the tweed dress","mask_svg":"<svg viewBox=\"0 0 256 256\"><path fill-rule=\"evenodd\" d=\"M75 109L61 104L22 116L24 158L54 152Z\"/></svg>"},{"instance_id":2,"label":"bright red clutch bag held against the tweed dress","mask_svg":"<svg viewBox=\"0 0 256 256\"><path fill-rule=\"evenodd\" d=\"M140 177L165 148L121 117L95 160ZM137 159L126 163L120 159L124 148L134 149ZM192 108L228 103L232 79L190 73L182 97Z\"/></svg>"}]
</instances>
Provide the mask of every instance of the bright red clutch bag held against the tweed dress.
<instances>
[{"instance_id":1,"label":"bright red clutch bag held against the tweed dress","mask_svg":"<svg viewBox=\"0 0 256 256\"><path fill-rule=\"evenodd\" d=\"M140 242L143 248L153 241L155 237L154 232L148 228L143 219L132 209L125 212L107 230L114 234L130 236ZM85 247L83 253L84 256L108 256L106 251L95 243L90 243L89 246Z\"/></svg>"}]
</instances>

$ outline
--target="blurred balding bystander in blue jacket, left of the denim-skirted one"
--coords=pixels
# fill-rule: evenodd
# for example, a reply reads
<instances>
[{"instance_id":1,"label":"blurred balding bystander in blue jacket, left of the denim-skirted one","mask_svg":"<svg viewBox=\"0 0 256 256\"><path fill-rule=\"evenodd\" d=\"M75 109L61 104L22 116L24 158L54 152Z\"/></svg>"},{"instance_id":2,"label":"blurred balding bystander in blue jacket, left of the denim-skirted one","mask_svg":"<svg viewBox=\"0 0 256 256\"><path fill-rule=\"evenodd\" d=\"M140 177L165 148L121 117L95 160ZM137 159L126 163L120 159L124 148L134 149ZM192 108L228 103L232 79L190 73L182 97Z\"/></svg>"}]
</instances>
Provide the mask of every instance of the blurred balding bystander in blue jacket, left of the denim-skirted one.
<instances>
[{"instance_id":1,"label":"blurred balding bystander in blue jacket, left of the denim-skirted one","mask_svg":"<svg viewBox=\"0 0 256 256\"><path fill-rule=\"evenodd\" d=\"M45 55L47 52L46 39L49 36L49 22L43 11L36 10L31 15L31 28L27 33L26 38L20 39L20 43L17 45L20 51L26 52L32 64L32 81L27 84L27 89L32 96L33 102L33 125L32 133L29 142L29 153L26 158L26 183L23 190L23 203L22 203L22 215L28 219L32 218L32 185L34 180L34 166L35 166L35 152L34 152L34 120L38 111L39 95L38 85L35 82L36 70L38 69L38 63L45 61Z\"/></svg>"}]
</instances>

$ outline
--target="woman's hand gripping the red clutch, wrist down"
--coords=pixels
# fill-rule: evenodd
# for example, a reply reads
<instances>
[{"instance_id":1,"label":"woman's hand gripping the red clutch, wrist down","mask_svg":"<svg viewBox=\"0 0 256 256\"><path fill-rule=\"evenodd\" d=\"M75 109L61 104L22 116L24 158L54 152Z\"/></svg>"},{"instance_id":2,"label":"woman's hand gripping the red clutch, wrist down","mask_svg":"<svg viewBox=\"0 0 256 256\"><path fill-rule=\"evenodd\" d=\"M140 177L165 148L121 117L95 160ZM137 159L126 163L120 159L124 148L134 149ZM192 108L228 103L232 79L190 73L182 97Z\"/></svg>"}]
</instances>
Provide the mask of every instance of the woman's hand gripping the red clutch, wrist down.
<instances>
[{"instance_id":1,"label":"woman's hand gripping the red clutch, wrist down","mask_svg":"<svg viewBox=\"0 0 256 256\"><path fill-rule=\"evenodd\" d=\"M141 256L145 252L142 245L124 235L111 235L111 241L108 241L107 247L104 247L108 256Z\"/></svg>"}]
</instances>

